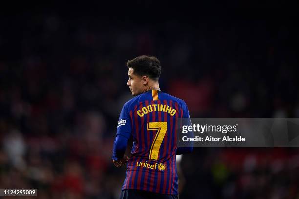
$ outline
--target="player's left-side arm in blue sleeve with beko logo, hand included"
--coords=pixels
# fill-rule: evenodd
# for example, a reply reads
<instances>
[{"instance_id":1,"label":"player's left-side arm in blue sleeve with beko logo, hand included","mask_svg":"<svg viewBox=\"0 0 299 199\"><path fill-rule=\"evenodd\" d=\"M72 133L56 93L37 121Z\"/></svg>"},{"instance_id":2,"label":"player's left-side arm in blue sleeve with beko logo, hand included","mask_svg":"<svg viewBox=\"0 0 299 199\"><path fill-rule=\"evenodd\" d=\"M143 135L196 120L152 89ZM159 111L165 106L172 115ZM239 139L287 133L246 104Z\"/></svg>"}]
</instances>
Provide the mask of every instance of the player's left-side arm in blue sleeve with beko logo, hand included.
<instances>
[{"instance_id":1,"label":"player's left-side arm in blue sleeve with beko logo, hand included","mask_svg":"<svg viewBox=\"0 0 299 199\"><path fill-rule=\"evenodd\" d=\"M129 159L125 155L125 151L128 145L128 139L131 136L131 129L131 118L126 106L124 105L119 117L117 133L113 145L112 159L116 167L126 164Z\"/></svg>"}]
</instances>

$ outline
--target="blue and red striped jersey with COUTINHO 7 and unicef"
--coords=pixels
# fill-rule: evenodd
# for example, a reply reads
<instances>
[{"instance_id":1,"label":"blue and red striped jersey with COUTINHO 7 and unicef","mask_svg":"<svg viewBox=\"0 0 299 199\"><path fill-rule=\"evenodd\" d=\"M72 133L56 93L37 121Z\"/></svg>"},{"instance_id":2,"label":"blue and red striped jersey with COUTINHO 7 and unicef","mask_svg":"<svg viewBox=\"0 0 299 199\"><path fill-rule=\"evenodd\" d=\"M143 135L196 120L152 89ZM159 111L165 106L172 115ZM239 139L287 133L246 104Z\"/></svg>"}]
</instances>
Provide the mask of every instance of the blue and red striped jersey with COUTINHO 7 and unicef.
<instances>
[{"instance_id":1,"label":"blue and red striped jersey with COUTINHO 7 and unicef","mask_svg":"<svg viewBox=\"0 0 299 199\"><path fill-rule=\"evenodd\" d=\"M189 118L186 103L158 90L125 103L117 135L132 136L133 146L122 190L178 194L175 156L179 118Z\"/></svg>"}]
</instances>

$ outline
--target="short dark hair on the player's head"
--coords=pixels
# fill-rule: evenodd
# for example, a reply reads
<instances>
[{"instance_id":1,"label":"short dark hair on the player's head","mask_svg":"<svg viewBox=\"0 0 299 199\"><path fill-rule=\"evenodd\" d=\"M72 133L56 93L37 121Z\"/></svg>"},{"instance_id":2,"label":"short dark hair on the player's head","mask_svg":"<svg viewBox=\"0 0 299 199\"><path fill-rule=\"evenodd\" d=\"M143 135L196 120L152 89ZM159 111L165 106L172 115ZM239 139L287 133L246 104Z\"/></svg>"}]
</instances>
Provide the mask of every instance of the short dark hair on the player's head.
<instances>
[{"instance_id":1,"label":"short dark hair on the player's head","mask_svg":"<svg viewBox=\"0 0 299 199\"><path fill-rule=\"evenodd\" d=\"M134 69L134 74L139 76L148 76L158 81L161 74L161 66L158 58L142 55L127 62L128 68Z\"/></svg>"}]
</instances>

